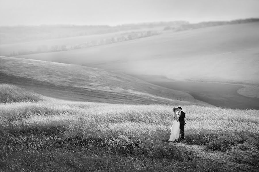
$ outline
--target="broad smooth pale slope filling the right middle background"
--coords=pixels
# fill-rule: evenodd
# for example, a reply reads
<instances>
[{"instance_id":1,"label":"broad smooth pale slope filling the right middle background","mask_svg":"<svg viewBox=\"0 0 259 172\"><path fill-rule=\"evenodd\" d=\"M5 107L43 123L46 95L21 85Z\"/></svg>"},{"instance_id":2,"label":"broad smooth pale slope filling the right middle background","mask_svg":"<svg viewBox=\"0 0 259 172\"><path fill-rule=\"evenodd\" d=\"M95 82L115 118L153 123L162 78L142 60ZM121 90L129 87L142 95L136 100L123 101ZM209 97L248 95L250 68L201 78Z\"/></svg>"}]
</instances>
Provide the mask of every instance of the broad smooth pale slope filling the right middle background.
<instances>
[{"instance_id":1,"label":"broad smooth pale slope filling the right middle background","mask_svg":"<svg viewBox=\"0 0 259 172\"><path fill-rule=\"evenodd\" d=\"M258 85L258 27L254 22L165 31L110 45L18 57L175 80Z\"/></svg>"}]
</instances>

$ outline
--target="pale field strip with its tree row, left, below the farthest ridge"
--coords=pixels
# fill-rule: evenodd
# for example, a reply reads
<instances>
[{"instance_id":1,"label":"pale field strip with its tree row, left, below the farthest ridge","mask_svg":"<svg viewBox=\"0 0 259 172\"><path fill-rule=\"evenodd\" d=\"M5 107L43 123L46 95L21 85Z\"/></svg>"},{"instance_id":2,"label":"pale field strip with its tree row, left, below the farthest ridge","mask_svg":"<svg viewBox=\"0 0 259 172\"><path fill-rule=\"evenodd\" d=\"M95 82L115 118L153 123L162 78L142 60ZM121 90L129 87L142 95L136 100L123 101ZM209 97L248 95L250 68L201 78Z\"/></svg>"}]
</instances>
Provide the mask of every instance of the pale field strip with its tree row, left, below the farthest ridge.
<instances>
[{"instance_id":1,"label":"pale field strip with its tree row, left, below the farthest ridge","mask_svg":"<svg viewBox=\"0 0 259 172\"><path fill-rule=\"evenodd\" d=\"M46 53L55 51L69 51L73 49L82 49L93 46L128 41L150 37L161 33L163 28L138 29L129 31L120 31L99 35L87 35L78 37L67 37L59 39L47 39L31 42L21 42L12 44L0 44L1 56L18 56L24 54Z\"/></svg>"}]
</instances>

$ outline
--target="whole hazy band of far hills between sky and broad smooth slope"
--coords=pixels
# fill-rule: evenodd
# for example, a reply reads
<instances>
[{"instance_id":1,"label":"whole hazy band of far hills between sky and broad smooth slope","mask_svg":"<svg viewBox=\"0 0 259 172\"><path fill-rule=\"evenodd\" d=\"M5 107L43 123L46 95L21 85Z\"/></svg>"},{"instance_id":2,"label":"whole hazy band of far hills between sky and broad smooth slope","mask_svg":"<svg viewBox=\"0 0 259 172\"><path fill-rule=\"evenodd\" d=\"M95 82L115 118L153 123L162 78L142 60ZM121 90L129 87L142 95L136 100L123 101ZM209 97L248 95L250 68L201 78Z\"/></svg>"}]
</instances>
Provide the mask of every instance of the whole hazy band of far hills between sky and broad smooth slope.
<instances>
[{"instance_id":1,"label":"whole hazy band of far hills between sky and broad smooth slope","mask_svg":"<svg viewBox=\"0 0 259 172\"><path fill-rule=\"evenodd\" d=\"M67 51L157 35L164 30L182 31L228 24L258 22L258 18L189 23L151 22L120 26L41 25L0 27L0 55L15 56Z\"/></svg>"}]
</instances>

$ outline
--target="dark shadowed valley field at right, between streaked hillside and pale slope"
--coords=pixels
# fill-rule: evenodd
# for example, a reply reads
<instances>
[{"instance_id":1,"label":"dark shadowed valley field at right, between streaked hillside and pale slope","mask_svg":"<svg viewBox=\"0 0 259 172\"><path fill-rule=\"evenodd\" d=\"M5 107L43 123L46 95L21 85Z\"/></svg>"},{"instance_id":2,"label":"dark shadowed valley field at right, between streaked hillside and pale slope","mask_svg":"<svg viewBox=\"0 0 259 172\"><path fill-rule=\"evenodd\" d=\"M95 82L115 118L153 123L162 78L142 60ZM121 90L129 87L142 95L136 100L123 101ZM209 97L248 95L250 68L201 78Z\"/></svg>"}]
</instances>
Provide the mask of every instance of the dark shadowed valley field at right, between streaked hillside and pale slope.
<instances>
[{"instance_id":1,"label":"dark shadowed valley field at right, between streaked hillside and pale slope","mask_svg":"<svg viewBox=\"0 0 259 172\"><path fill-rule=\"evenodd\" d=\"M214 106L237 109L259 109L259 87L228 83L175 81L164 76L134 76L148 83L191 94L195 99Z\"/></svg>"}]
</instances>

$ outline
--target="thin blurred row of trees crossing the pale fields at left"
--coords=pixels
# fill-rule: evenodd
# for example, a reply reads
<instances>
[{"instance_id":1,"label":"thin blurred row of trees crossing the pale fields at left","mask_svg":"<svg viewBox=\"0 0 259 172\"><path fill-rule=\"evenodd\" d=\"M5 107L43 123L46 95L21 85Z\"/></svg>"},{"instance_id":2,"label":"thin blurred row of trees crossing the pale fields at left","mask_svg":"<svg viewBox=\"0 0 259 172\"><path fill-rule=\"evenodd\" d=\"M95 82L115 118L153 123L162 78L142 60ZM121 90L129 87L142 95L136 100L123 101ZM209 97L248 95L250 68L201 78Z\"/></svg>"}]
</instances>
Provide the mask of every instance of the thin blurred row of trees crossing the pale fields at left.
<instances>
[{"instance_id":1,"label":"thin blurred row of trees crossing the pale fields at left","mask_svg":"<svg viewBox=\"0 0 259 172\"><path fill-rule=\"evenodd\" d=\"M158 34L160 34L160 33L157 31L146 31L146 32L137 32L137 33L132 32L132 33L129 33L126 35L123 34L123 35L117 36L117 37L86 41L85 43L74 44L74 45L53 45L50 47L48 47L47 45L41 45L36 50L13 51L12 53L9 54L9 56L47 53L47 52L55 52L55 51L68 51L68 50L73 50L73 49L81 49L81 48L93 47L93 46L98 46L98 45L106 45L106 44L117 43L117 42L122 42L122 41L129 41L129 40L133 40L133 39L150 37L150 36L158 35Z\"/></svg>"}]
</instances>

